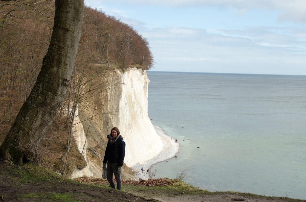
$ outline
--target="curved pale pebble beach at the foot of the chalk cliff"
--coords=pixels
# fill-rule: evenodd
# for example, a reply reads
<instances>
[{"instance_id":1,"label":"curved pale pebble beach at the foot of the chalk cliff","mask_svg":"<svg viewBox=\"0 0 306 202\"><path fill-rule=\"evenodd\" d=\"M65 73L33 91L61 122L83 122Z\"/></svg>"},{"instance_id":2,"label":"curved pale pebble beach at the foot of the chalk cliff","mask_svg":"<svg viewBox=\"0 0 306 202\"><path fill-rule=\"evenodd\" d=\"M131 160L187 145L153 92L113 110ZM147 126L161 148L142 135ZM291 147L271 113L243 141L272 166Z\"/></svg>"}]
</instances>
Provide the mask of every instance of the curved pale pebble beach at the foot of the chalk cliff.
<instances>
[{"instance_id":1,"label":"curved pale pebble beach at the foot of the chalk cliff","mask_svg":"<svg viewBox=\"0 0 306 202\"><path fill-rule=\"evenodd\" d=\"M147 169L151 170L152 165L175 158L175 155L177 155L178 151L180 150L180 145L177 142L174 142L174 139L170 140L170 136L167 135L161 127L156 125L153 126L157 135L159 135L159 137L162 139L162 150L152 159L141 164L137 163L131 167L133 171L136 172L134 176L136 180L139 180L139 178L148 179L149 175L146 174ZM141 168L144 168L144 172L141 172Z\"/></svg>"}]
</instances>

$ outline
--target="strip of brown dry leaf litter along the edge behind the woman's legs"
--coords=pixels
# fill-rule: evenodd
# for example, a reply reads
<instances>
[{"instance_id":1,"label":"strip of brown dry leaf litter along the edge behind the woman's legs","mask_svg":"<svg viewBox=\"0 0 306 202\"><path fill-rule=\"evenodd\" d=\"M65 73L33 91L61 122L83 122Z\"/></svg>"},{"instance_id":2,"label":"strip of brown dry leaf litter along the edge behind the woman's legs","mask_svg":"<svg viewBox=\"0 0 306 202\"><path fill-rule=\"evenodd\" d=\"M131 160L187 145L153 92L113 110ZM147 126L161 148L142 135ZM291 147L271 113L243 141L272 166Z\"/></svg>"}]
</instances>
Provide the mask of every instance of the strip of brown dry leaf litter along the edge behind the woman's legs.
<instances>
[{"instance_id":1,"label":"strip of brown dry leaf litter along the edge behind the woman's legs","mask_svg":"<svg viewBox=\"0 0 306 202\"><path fill-rule=\"evenodd\" d=\"M85 183L85 184L94 184L94 185L109 184L106 179L102 179L102 178L80 177L74 180L77 182ZM167 185L173 185L174 183L178 182L175 179L167 179L167 178L148 179L148 180L142 180L142 181L124 179L121 181L123 184L144 185L144 186L167 186Z\"/></svg>"}]
</instances>

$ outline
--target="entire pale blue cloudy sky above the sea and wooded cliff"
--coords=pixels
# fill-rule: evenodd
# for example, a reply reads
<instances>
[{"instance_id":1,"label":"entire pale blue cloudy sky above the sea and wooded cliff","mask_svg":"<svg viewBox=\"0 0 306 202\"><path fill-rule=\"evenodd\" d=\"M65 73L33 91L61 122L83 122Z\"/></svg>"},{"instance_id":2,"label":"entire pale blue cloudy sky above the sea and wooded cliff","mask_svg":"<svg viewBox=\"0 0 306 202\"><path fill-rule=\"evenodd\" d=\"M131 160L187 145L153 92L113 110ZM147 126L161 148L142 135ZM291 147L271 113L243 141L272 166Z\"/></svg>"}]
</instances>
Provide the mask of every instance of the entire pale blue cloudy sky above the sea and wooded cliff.
<instances>
[{"instance_id":1,"label":"entire pale blue cloudy sky above the sea and wooded cliff","mask_svg":"<svg viewBox=\"0 0 306 202\"><path fill-rule=\"evenodd\" d=\"M149 41L153 71L306 75L306 0L85 0Z\"/></svg>"}]
</instances>

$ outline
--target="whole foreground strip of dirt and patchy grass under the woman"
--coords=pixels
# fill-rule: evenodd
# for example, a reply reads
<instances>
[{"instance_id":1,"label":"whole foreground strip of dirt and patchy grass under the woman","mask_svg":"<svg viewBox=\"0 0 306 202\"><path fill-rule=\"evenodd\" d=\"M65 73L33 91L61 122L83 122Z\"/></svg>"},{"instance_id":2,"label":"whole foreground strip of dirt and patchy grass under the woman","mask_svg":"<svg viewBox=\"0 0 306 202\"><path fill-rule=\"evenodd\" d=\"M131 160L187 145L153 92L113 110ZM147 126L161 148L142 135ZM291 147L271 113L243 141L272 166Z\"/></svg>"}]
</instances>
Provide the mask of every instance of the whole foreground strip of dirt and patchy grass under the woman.
<instances>
[{"instance_id":1,"label":"whole foreground strip of dirt and patchy grass under the woman","mask_svg":"<svg viewBox=\"0 0 306 202\"><path fill-rule=\"evenodd\" d=\"M84 184L64 179L55 173L33 165L14 166L0 161L1 201L249 201L249 202L302 202L289 198L262 197L244 193L181 194L148 186L123 184L123 191L110 189L108 185ZM130 187L130 188L129 188ZM137 190L136 190L137 189ZM199 190L200 191L200 190ZM198 192L199 193L199 192ZM165 195L167 194L167 195Z\"/></svg>"}]
</instances>

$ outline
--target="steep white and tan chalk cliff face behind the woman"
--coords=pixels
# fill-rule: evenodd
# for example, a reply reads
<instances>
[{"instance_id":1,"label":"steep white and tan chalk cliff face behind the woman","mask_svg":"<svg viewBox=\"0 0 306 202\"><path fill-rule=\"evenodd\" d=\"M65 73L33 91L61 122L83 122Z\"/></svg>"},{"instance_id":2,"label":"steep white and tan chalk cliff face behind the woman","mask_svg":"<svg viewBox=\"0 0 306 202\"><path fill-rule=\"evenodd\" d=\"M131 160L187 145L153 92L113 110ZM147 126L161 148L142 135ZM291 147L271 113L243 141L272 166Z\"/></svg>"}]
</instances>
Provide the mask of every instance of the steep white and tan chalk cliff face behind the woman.
<instances>
[{"instance_id":1,"label":"steep white and tan chalk cliff face behind the woman","mask_svg":"<svg viewBox=\"0 0 306 202\"><path fill-rule=\"evenodd\" d=\"M162 140L147 114L147 72L137 68L129 68L125 72L119 69L108 70L101 80L107 84L106 89L95 97L96 105L80 114L79 118L83 122L75 126L74 137L80 144L80 152L84 139L88 150L83 152L86 154L87 167L75 170L72 178L101 177L101 157L104 156L107 144L106 135L114 126L119 128L126 143L124 162L128 167L141 164L162 150ZM95 116L90 118L92 114ZM75 122L80 121L76 119Z\"/></svg>"}]
</instances>

